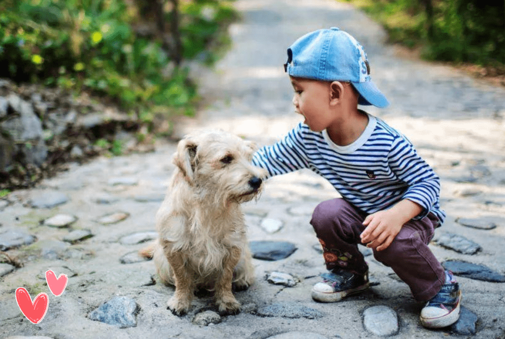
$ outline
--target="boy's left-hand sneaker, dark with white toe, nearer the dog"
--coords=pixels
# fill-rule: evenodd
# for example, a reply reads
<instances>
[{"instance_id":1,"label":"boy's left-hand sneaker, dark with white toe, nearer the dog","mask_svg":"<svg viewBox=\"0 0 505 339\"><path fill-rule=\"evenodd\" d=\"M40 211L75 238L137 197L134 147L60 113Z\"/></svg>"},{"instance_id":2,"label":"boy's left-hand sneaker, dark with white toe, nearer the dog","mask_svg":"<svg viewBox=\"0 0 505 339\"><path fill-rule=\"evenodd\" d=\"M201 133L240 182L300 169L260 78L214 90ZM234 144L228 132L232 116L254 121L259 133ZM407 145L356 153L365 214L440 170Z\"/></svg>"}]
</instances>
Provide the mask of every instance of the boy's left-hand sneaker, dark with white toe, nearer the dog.
<instances>
[{"instance_id":1,"label":"boy's left-hand sneaker, dark with white toe, nearer the dog","mask_svg":"<svg viewBox=\"0 0 505 339\"><path fill-rule=\"evenodd\" d=\"M370 287L368 272L357 274L339 269L323 273L321 276L323 281L312 287L312 298L322 303L334 303Z\"/></svg>"}]
</instances>

